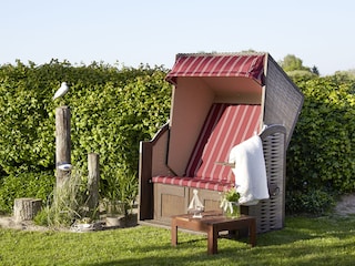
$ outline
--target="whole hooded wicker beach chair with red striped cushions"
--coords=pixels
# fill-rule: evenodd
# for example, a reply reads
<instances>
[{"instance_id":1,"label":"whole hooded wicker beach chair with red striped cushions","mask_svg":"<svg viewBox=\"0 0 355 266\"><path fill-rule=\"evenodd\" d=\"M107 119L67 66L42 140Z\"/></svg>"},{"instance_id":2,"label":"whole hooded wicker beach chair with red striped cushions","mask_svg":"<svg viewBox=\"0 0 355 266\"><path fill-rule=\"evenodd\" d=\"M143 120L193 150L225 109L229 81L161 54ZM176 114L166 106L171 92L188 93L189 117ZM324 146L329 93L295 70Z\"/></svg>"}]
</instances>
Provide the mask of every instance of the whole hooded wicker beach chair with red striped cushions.
<instances>
[{"instance_id":1,"label":"whole hooded wicker beach chair with red striped cushions","mask_svg":"<svg viewBox=\"0 0 355 266\"><path fill-rule=\"evenodd\" d=\"M285 156L303 94L268 53L178 54L170 121L141 142L139 221L169 225L187 213L193 191L205 211L219 209L235 186L231 151L258 135L268 198L242 206L257 232L284 226ZM235 165L237 167L237 165Z\"/></svg>"}]
</instances>

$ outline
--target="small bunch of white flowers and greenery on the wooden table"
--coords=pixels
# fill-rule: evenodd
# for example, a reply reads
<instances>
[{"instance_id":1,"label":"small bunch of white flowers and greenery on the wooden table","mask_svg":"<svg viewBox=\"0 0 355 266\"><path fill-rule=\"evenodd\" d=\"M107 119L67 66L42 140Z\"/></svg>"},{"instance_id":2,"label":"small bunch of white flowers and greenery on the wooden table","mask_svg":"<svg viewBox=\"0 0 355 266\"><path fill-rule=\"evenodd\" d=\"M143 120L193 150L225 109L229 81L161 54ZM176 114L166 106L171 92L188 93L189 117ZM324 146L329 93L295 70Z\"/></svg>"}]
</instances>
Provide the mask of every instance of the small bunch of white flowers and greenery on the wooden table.
<instances>
[{"instance_id":1,"label":"small bunch of white flowers and greenery on the wooden table","mask_svg":"<svg viewBox=\"0 0 355 266\"><path fill-rule=\"evenodd\" d=\"M235 187L226 191L221 201L221 208L223 214L231 218L237 218L241 216L241 206L239 203L240 194L236 192Z\"/></svg>"}]
</instances>

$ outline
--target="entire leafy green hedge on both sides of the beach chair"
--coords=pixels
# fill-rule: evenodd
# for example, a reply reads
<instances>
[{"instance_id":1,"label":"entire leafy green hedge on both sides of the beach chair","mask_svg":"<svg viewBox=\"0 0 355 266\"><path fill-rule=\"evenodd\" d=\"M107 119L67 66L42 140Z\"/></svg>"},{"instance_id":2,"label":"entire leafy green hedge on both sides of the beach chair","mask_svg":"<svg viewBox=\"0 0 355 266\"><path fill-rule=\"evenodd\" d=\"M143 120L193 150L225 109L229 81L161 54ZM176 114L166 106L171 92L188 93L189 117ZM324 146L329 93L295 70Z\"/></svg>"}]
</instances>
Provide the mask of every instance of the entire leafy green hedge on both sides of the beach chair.
<instances>
[{"instance_id":1,"label":"entire leafy green hedge on both sides of the beach chair","mask_svg":"<svg viewBox=\"0 0 355 266\"><path fill-rule=\"evenodd\" d=\"M61 104L71 108L74 167L85 173L88 153L100 154L102 195L118 175L136 173L139 142L150 140L169 117L165 74L160 66L55 60L1 65L0 211L11 209L13 197L45 200L51 193L54 113ZM305 102L287 151L286 208L322 213L334 203L332 195L355 191L355 82L339 74L294 79ZM70 92L53 102L62 81Z\"/></svg>"}]
</instances>

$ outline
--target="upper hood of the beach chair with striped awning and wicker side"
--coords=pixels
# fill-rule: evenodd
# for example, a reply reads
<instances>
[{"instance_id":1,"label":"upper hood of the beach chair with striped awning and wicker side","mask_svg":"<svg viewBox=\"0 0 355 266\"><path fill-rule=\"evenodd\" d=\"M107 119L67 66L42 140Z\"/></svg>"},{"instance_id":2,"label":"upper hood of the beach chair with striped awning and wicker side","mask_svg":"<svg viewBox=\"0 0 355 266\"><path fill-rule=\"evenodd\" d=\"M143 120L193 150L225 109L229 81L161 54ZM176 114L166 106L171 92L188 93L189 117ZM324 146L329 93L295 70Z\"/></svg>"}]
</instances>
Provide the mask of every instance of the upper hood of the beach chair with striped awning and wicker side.
<instances>
[{"instance_id":1,"label":"upper hood of the beach chair with striped awning and wicker side","mask_svg":"<svg viewBox=\"0 0 355 266\"><path fill-rule=\"evenodd\" d=\"M262 104L264 124L286 127L286 147L303 105L303 94L268 53L180 53L166 81L205 85L213 100L203 102Z\"/></svg>"}]
</instances>

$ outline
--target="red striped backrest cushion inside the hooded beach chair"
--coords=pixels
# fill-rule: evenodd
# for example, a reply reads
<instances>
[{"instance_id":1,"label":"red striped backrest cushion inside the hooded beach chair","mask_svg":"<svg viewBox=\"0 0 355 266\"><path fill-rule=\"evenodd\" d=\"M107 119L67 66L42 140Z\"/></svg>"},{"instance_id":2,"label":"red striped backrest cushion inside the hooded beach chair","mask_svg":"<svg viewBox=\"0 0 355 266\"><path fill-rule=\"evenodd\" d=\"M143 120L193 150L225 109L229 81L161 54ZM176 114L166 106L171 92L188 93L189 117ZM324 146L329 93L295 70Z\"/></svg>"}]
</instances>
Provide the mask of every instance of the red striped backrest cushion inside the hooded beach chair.
<instances>
[{"instance_id":1,"label":"red striped backrest cushion inside the hooded beach chair","mask_svg":"<svg viewBox=\"0 0 355 266\"><path fill-rule=\"evenodd\" d=\"M234 182L231 167L216 162L227 162L233 146L258 132L260 119L258 104L214 103L191 154L185 175Z\"/></svg>"}]
</instances>

